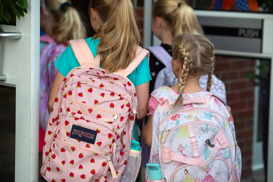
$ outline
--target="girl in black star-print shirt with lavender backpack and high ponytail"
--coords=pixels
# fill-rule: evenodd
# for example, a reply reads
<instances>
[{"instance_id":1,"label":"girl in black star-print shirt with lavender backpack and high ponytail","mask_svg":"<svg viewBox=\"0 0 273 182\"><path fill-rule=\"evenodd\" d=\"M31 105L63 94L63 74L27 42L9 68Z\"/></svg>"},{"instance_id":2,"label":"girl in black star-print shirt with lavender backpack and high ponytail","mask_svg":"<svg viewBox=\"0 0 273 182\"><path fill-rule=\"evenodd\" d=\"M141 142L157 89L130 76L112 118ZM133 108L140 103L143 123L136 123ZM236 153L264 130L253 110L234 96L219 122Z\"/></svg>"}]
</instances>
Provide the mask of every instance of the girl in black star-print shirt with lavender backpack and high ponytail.
<instances>
[{"instance_id":1,"label":"girl in black star-print shirt with lavender backpack and high ponytail","mask_svg":"<svg viewBox=\"0 0 273 182\"><path fill-rule=\"evenodd\" d=\"M162 41L160 46L148 47L150 54L150 70L152 81L150 93L163 85L173 86L177 79L171 70L171 43L179 34L203 35L201 26L193 9L184 0L158 0L152 9L152 30ZM163 56L164 55L164 56ZM206 88L207 76L200 77L200 86ZM226 88L224 83L212 75L211 92L226 102Z\"/></svg>"}]
</instances>

